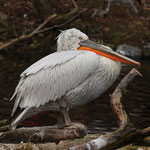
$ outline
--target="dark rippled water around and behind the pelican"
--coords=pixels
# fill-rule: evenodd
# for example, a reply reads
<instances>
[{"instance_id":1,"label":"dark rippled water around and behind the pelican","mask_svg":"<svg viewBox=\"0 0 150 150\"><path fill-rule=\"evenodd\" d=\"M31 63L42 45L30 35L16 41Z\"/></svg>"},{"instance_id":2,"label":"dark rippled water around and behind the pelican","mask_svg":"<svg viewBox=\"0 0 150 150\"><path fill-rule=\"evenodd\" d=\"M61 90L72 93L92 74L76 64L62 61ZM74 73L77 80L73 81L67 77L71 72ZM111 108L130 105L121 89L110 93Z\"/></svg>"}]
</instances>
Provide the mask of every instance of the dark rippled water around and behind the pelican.
<instances>
[{"instance_id":1,"label":"dark rippled water around and behind the pelican","mask_svg":"<svg viewBox=\"0 0 150 150\"><path fill-rule=\"evenodd\" d=\"M23 61L18 63L13 60L0 61L0 120L10 118L13 102L9 102L9 99L19 81L19 74L30 64L31 61L28 63ZM104 133L116 130L118 128L117 118L112 112L109 94L113 92L117 83L132 67L129 65L124 66L119 79L105 94L85 106L71 110L70 116L72 120L87 125L90 133ZM150 124L149 68L149 62L142 63L142 67L138 68L138 70L142 73L143 78L137 77L129 85L122 99L130 120L137 128L143 128ZM31 121L33 125L52 125L56 122L56 117L53 112L41 113L27 119L21 126L30 126Z\"/></svg>"}]
</instances>

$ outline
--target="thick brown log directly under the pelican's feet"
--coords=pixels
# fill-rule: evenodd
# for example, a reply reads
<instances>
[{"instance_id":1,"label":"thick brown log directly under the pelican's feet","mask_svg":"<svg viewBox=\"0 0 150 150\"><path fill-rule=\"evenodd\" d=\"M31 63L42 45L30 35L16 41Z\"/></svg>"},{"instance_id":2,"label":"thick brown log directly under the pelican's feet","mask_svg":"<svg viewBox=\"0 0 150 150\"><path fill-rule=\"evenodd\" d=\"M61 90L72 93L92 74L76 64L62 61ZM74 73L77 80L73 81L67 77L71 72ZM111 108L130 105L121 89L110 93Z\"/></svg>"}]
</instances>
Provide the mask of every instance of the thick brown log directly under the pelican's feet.
<instances>
[{"instance_id":1,"label":"thick brown log directly under the pelican's feet","mask_svg":"<svg viewBox=\"0 0 150 150\"><path fill-rule=\"evenodd\" d=\"M74 123L74 125L63 129L53 126L18 128L4 132L0 136L0 143L59 143L62 140L83 138L86 134L87 129L81 123Z\"/></svg>"}]
</instances>

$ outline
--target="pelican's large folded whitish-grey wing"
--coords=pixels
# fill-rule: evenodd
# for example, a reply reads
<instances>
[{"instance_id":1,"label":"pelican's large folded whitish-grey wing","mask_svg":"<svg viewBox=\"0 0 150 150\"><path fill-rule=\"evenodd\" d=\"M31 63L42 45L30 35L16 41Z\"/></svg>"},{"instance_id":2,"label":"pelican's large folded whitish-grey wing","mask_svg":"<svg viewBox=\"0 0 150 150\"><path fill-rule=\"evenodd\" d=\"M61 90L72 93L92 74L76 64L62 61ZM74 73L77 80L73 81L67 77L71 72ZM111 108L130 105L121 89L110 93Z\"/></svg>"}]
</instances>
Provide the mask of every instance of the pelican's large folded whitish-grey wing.
<instances>
[{"instance_id":1,"label":"pelican's large folded whitish-grey wing","mask_svg":"<svg viewBox=\"0 0 150 150\"><path fill-rule=\"evenodd\" d=\"M98 56L88 51L56 52L39 60L21 74L12 99L17 107L39 107L60 99L83 83L98 65Z\"/></svg>"}]
</instances>

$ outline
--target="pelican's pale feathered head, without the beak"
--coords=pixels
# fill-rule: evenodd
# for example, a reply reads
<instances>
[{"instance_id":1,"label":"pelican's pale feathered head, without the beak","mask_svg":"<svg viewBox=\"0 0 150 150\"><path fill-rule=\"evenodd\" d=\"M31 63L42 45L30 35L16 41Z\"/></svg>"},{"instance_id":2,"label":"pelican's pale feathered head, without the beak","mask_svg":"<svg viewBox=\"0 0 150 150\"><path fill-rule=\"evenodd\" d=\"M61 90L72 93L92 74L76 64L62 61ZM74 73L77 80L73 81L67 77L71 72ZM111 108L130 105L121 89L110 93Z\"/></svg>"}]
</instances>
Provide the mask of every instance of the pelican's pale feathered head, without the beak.
<instances>
[{"instance_id":1,"label":"pelican's pale feathered head, without the beak","mask_svg":"<svg viewBox=\"0 0 150 150\"><path fill-rule=\"evenodd\" d=\"M57 39L57 51L77 50L81 41L88 40L88 36L76 28L61 31Z\"/></svg>"}]
</instances>

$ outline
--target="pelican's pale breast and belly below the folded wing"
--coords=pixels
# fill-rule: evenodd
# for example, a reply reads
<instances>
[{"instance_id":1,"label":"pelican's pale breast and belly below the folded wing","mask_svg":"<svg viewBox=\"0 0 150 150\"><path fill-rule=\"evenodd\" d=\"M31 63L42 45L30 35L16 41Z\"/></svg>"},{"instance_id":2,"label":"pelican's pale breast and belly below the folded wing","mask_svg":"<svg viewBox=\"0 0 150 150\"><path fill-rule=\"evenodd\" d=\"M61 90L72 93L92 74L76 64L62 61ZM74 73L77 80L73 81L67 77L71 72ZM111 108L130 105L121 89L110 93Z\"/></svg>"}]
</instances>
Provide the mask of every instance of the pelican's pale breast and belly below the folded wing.
<instances>
[{"instance_id":1,"label":"pelican's pale breast and belly below the folded wing","mask_svg":"<svg viewBox=\"0 0 150 150\"><path fill-rule=\"evenodd\" d=\"M66 93L63 101L68 108L84 105L103 94L117 79L120 63L99 57L99 65L91 76L75 89Z\"/></svg>"}]
</instances>

